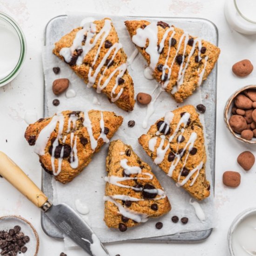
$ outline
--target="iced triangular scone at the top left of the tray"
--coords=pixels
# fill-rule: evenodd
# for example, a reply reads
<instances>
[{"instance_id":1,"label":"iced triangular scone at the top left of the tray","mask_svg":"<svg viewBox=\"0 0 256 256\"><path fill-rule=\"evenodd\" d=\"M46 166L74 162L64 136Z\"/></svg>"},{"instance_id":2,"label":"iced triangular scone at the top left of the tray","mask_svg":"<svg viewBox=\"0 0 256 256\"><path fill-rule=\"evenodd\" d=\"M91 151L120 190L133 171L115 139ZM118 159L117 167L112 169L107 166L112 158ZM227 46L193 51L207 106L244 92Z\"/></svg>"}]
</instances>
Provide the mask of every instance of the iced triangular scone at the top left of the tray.
<instances>
[{"instance_id":1,"label":"iced triangular scone at the top left of the tray","mask_svg":"<svg viewBox=\"0 0 256 256\"><path fill-rule=\"evenodd\" d=\"M91 20L55 43L53 53L65 61L88 87L108 96L119 108L134 108L134 85L127 56L110 19Z\"/></svg>"}]
</instances>

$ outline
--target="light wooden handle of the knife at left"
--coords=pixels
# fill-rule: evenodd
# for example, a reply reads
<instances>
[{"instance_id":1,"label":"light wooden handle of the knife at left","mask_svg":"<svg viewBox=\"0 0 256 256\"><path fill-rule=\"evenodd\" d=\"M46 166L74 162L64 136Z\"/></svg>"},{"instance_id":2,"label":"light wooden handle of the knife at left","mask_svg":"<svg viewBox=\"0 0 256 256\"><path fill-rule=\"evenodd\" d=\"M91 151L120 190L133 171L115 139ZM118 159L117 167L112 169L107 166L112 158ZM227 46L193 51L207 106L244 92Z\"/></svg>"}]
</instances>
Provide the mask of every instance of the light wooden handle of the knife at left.
<instances>
[{"instance_id":1,"label":"light wooden handle of the knife at left","mask_svg":"<svg viewBox=\"0 0 256 256\"><path fill-rule=\"evenodd\" d=\"M6 154L0 151L0 175L2 175L21 194L34 203L37 207L42 207L48 200L47 196L35 185L30 178L17 166Z\"/></svg>"}]
</instances>

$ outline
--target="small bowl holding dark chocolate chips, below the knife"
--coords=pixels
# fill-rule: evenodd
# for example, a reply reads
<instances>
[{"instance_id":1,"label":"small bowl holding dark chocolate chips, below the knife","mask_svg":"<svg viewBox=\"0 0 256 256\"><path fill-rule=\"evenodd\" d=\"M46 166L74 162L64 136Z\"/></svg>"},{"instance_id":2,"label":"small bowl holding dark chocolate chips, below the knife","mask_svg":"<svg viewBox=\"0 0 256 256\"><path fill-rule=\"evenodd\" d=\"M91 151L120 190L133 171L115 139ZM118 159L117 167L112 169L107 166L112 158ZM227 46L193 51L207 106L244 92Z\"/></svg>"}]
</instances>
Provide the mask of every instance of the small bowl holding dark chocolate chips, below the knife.
<instances>
[{"instance_id":1,"label":"small bowl holding dark chocolate chips, below the knife","mask_svg":"<svg viewBox=\"0 0 256 256\"><path fill-rule=\"evenodd\" d=\"M37 256L39 238L30 222L20 216L0 217L0 255Z\"/></svg>"}]
</instances>

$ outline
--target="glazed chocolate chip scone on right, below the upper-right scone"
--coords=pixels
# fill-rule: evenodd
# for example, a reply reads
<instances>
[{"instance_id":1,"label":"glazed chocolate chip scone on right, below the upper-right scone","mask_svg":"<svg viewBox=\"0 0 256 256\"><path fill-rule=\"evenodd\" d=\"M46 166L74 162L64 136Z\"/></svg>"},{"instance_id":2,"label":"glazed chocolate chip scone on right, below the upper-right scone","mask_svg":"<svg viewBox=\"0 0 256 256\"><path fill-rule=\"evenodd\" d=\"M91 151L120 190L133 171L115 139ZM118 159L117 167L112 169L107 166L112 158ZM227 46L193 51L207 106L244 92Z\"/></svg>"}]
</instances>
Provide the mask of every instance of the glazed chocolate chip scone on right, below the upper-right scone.
<instances>
[{"instance_id":1,"label":"glazed chocolate chip scone on right, below the upper-right scone","mask_svg":"<svg viewBox=\"0 0 256 256\"><path fill-rule=\"evenodd\" d=\"M195 108L187 105L167 112L139 138L155 164L198 200L210 195L202 129Z\"/></svg>"}]
</instances>

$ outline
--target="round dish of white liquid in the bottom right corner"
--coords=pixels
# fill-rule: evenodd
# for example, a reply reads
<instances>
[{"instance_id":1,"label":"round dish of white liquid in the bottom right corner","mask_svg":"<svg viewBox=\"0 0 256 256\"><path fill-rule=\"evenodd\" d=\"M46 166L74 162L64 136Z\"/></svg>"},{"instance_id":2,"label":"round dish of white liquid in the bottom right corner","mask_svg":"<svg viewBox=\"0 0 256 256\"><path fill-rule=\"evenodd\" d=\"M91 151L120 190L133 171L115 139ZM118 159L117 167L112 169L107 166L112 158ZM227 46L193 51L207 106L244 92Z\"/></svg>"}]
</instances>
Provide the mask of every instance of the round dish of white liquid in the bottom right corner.
<instances>
[{"instance_id":1,"label":"round dish of white liquid in the bottom right corner","mask_svg":"<svg viewBox=\"0 0 256 256\"><path fill-rule=\"evenodd\" d=\"M256 208L236 217L229 229L231 256L256 256Z\"/></svg>"}]
</instances>

